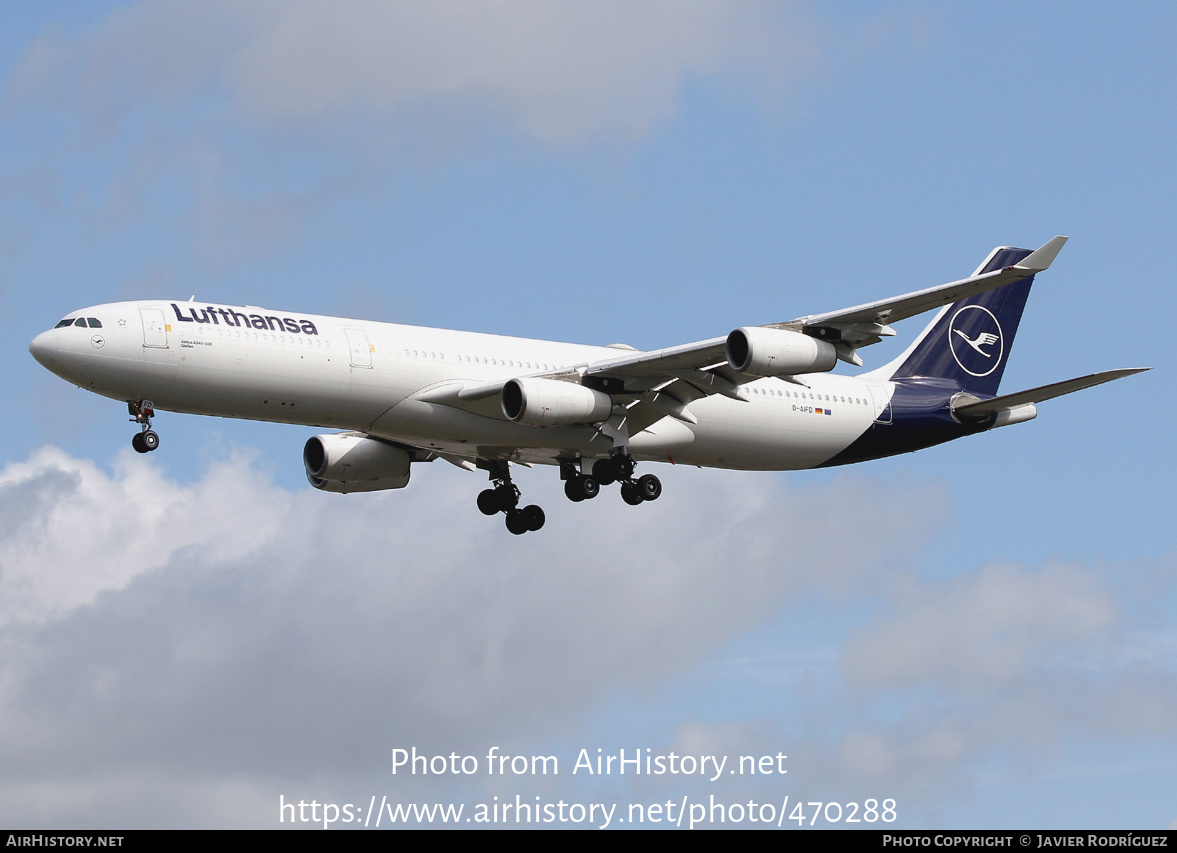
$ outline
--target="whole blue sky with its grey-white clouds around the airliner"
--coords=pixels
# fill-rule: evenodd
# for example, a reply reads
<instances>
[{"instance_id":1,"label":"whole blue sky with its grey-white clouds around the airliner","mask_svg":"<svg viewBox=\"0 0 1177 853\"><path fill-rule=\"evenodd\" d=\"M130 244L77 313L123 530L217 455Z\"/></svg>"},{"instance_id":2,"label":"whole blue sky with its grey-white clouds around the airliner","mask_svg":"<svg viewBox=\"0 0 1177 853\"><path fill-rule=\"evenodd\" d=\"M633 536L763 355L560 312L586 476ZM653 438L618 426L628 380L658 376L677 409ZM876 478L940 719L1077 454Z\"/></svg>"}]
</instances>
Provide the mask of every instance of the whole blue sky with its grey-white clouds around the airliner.
<instances>
[{"instance_id":1,"label":"whole blue sky with its grey-white clouds around the airliner","mask_svg":"<svg viewBox=\"0 0 1177 853\"><path fill-rule=\"evenodd\" d=\"M893 798L1177 821L1164 4L7 4L0 821L364 801ZM121 405L27 342L120 299L657 347L1071 240L1003 389L1152 372L915 455L659 471L504 538L481 479L314 493L312 429ZM917 334L864 352L883 364ZM441 467L439 467L441 466ZM737 785L393 778L390 749L790 755Z\"/></svg>"}]
</instances>

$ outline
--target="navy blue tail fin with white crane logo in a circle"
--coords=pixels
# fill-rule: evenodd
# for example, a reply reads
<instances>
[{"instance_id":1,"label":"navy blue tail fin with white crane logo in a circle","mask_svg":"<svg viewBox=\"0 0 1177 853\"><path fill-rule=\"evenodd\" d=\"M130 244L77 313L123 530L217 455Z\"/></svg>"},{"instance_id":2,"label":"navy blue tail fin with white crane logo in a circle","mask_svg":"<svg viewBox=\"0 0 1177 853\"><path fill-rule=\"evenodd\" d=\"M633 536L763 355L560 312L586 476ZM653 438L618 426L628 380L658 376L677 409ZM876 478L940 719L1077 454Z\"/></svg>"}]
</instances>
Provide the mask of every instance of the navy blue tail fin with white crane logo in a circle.
<instances>
[{"instance_id":1,"label":"navy blue tail fin with white crane logo in a circle","mask_svg":"<svg viewBox=\"0 0 1177 853\"><path fill-rule=\"evenodd\" d=\"M993 249L976 274L1013 266L1029 254L1026 248ZM1028 275L944 308L891 379L937 376L975 394L997 394L1032 284Z\"/></svg>"}]
</instances>

